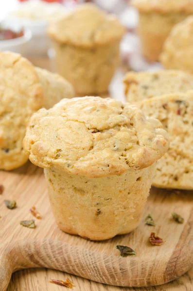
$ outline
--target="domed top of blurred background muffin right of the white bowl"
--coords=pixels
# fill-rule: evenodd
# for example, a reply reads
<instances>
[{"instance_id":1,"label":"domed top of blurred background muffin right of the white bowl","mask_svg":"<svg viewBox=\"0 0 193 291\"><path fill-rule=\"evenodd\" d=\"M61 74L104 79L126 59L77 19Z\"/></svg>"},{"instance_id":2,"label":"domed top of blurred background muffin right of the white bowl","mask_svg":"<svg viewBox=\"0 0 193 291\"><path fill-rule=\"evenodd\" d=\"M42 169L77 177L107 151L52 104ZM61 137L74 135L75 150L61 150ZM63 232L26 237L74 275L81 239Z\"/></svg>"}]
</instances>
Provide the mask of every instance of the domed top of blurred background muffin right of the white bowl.
<instances>
[{"instance_id":1,"label":"domed top of blurred background muffin right of the white bowl","mask_svg":"<svg viewBox=\"0 0 193 291\"><path fill-rule=\"evenodd\" d=\"M83 4L51 23L48 34L58 42L89 48L120 40L124 31L116 16Z\"/></svg>"}]
</instances>

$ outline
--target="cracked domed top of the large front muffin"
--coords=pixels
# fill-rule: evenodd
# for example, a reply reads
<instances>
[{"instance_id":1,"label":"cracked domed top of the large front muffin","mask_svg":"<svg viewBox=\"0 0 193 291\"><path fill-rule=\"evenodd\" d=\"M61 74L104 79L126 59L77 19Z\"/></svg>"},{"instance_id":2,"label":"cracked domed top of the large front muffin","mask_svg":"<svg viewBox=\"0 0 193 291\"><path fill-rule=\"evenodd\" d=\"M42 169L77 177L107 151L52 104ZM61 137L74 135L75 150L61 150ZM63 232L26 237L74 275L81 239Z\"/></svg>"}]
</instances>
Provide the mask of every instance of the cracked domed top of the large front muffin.
<instances>
[{"instance_id":1,"label":"cracked domed top of the large front muffin","mask_svg":"<svg viewBox=\"0 0 193 291\"><path fill-rule=\"evenodd\" d=\"M134 105L77 97L36 112L23 146L35 165L97 178L150 166L168 140L161 123Z\"/></svg>"}]
</instances>

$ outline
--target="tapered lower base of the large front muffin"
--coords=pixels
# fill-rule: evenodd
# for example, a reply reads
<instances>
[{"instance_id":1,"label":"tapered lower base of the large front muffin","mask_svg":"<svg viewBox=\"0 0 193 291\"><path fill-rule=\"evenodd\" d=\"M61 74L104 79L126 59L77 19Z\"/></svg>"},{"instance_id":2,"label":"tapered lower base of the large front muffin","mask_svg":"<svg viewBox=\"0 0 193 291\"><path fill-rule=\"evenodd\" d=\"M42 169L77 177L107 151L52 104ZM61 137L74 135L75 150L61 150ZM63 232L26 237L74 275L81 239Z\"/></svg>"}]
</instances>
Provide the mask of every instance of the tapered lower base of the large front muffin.
<instances>
[{"instance_id":1,"label":"tapered lower base of the large front muffin","mask_svg":"<svg viewBox=\"0 0 193 291\"><path fill-rule=\"evenodd\" d=\"M139 225L154 169L152 165L103 178L45 169L57 225L88 240L131 232Z\"/></svg>"}]
</instances>

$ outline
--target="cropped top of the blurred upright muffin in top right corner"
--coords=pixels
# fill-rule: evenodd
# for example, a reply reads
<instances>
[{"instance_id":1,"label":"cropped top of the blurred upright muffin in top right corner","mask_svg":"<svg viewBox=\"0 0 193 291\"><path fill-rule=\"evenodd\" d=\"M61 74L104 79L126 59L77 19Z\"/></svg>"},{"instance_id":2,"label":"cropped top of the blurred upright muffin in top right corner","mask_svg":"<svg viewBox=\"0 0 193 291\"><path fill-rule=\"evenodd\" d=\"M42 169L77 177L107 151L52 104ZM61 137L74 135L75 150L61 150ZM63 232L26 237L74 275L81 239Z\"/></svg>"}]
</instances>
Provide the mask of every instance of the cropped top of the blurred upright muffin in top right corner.
<instances>
[{"instance_id":1,"label":"cropped top of the blurred upright muffin in top right corner","mask_svg":"<svg viewBox=\"0 0 193 291\"><path fill-rule=\"evenodd\" d=\"M193 0L132 0L142 13L193 13Z\"/></svg>"}]
</instances>

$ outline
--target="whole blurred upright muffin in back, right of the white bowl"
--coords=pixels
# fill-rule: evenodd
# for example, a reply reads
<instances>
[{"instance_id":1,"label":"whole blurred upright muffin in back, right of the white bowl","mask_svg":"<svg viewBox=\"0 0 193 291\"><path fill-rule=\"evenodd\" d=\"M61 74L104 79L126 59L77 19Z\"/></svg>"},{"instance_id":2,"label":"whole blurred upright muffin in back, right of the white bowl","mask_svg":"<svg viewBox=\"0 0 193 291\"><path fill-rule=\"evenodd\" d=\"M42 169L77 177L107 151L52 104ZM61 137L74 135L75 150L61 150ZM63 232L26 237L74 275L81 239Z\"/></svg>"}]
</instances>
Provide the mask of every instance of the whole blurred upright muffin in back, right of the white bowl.
<instances>
[{"instance_id":1,"label":"whole blurred upright muffin in back, right of the white bowl","mask_svg":"<svg viewBox=\"0 0 193 291\"><path fill-rule=\"evenodd\" d=\"M93 4L78 6L50 25L57 71L78 95L105 93L119 63L124 28Z\"/></svg>"}]
</instances>

